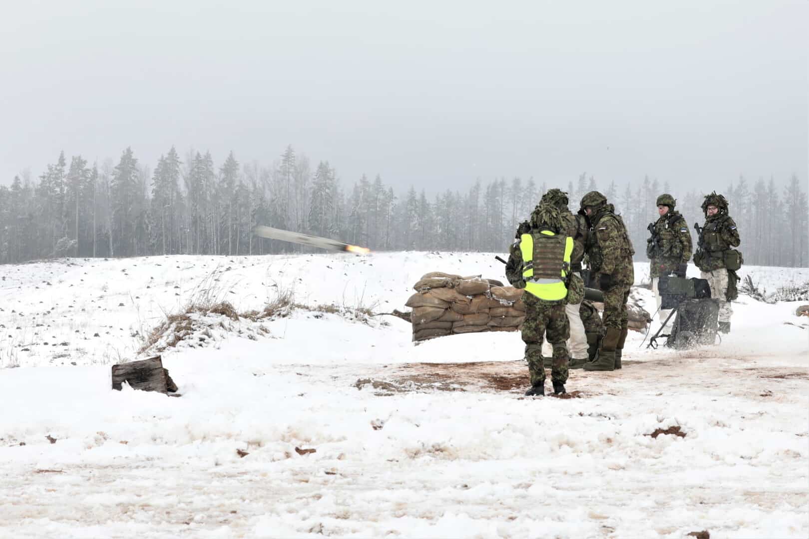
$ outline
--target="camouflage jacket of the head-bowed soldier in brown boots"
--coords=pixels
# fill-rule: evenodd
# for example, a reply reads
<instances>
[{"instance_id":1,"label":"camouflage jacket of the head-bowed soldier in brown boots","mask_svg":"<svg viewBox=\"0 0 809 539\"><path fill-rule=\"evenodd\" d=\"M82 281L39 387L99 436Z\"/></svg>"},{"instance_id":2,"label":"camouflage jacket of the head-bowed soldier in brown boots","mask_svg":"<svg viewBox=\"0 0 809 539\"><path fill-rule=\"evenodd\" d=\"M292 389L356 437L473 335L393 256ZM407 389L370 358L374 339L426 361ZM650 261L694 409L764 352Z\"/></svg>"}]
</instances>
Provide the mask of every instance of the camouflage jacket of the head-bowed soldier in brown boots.
<instances>
[{"instance_id":1,"label":"camouflage jacket of the head-bowed soldier in brown boots","mask_svg":"<svg viewBox=\"0 0 809 539\"><path fill-rule=\"evenodd\" d=\"M591 217L591 234L587 241L587 259L591 271L612 275L620 284L632 284L635 250L627 234L624 220L615 214L612 204L604 204Z\"/></svg>"}]
</instances>

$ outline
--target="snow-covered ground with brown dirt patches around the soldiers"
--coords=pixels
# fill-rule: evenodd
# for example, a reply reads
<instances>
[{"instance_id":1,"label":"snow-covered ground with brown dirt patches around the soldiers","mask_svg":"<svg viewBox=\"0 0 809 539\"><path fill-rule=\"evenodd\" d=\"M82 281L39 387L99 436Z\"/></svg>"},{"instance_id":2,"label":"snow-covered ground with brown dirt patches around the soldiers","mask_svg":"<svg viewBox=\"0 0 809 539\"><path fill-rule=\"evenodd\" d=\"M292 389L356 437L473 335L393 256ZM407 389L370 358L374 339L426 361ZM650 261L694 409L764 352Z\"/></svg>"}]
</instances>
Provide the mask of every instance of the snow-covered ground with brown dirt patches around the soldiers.
<instances>
[{"instance_id":1,"label":"snow-covered ground with brown dirt patches around the soldiers","mask_svg":"<svg viewBox=\"0 0 809 539\"><path fill-rule=\"evenodd\" d=\"M527 399L516 333L413 346L399 318L350 315L403 310L431 271L502 278L478 253L0 266L0 365L20 367L0 369L0 537L809 535L797 303L740 297L718 347L653 352L631 332L621 371ZM180 398L109 389L167 314L279 293L313 309L163 352ZM685 436L649 436L670 427Z\"/></svg>"}]
</instances>

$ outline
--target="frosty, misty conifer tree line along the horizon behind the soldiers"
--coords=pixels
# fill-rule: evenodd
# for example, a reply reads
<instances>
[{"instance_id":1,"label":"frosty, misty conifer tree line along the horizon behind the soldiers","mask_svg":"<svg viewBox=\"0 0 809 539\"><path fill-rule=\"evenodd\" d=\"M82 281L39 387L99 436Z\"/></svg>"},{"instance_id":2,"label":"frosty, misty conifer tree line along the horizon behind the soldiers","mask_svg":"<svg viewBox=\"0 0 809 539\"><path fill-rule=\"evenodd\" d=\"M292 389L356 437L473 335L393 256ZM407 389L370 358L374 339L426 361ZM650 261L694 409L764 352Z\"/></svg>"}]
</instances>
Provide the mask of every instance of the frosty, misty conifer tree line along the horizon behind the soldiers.
<instances>
[{"instance_id":1,"label":"frosty, misty conifer tree line along the horizon behind the soldiers","mask_svg":"<svg viewBox=\"0 0 809 539\"><path fill-rule=\"evenodd\" d=\"M22 176L22 177L21 177ZM700 204L714 189L730 201L745 263L805 267L809 263L807 193L792 176L748 180L722 189L680 192L645 177L599 186L592 175L537 183L534 179L477 179L463 191L435 196L412 186L396 192L380 175L345 184L327 161L316 166L287 146L272 166L239 163L231 152L220 164L210 153L172 147L154 170L131 148L115 164L90 165L64 152L38 178L26 172L0 186L0 263L50 257L143 255L264 255L306 247L252 235L269 225L340 239L375 251L505 252L516 225L551 187L566 190L575 212L584 193L600 188L621 213L637 260L646 258L646 226L656 197L671 193L693 231L704 222ZM694 236L696 242L696 236Z\"/></svg>"}]
</instances>

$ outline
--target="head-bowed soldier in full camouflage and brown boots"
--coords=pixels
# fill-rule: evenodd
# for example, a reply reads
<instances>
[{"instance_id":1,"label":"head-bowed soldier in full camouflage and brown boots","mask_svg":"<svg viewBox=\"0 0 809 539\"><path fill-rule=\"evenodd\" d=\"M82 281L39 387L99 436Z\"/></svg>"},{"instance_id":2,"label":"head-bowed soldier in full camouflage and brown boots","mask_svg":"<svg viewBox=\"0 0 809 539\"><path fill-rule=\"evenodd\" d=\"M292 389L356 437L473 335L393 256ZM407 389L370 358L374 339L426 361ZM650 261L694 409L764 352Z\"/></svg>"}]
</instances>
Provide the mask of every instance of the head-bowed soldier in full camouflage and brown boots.
<instances>
[{"instance_id":1,"label":"head-bowed soldier in full camouflage and brown boots","mask_svg":"<svg viewBox=\"0 0 809 539\"><path fill-rule=\"evenodd\" d=\"M635 280L632 255L635 254L629 234L615 207L597 191L582 196L581 213L590 222L587 238L587 258L590 270L598 275L599 288L604 291L604 327L595 360L584 365L587 371L611 371L621 368L621 355L628 333L629 315L626 302L629 288Z\"/></svg>"}]
</instances>

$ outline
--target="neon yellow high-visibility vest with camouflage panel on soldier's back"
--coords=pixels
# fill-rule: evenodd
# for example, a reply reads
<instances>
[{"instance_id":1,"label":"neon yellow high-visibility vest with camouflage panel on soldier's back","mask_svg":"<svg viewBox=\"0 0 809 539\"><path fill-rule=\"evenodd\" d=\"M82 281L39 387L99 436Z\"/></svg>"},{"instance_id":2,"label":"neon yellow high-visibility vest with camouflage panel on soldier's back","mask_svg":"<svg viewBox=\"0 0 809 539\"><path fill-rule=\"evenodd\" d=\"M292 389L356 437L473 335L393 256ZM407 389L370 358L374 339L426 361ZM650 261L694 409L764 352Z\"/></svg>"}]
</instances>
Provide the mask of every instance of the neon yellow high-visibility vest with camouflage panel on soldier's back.
<instances>
[{"instance_id":1,"label":"neon yellow high-visibility vest with camouflage panel on soldier's back","mask_svg":"<svg viewBox=\"0 0 809 539\"><path fill-rule=\"evenodd\" d=\"M564 300L573 238L550 230L533 229L531 234L520 237L519 251L523 255L526 291L544 301Z\"/></svg>"}]
</instances>

